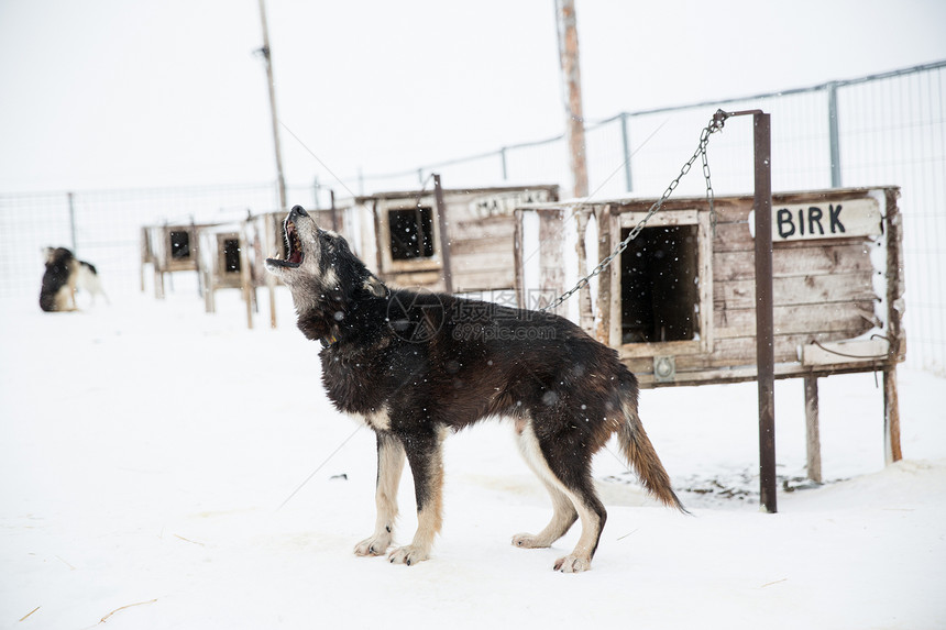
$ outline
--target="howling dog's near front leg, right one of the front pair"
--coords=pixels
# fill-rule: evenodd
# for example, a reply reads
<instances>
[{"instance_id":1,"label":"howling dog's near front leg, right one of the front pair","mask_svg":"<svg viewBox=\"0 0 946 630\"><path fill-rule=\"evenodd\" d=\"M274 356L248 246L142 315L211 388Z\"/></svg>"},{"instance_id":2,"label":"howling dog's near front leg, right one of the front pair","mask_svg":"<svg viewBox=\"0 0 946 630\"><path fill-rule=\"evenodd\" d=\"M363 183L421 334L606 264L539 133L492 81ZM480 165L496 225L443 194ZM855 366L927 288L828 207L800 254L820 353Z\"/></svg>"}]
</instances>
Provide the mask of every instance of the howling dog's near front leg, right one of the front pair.
<instances>
[{"instance_id":1,"label":"howling dog's near front leg, right one of the front pair","mask_svg":"<svg viewBox=\"0 0 946 630\"><path fill-rule=\"evenodd\" d=\"M417 532L409 545L388 555L392 563L417 564L430 557L433 538L443 522L443 439L446 429L404 438L417 496Z\"/></svg>"}]
</instances>

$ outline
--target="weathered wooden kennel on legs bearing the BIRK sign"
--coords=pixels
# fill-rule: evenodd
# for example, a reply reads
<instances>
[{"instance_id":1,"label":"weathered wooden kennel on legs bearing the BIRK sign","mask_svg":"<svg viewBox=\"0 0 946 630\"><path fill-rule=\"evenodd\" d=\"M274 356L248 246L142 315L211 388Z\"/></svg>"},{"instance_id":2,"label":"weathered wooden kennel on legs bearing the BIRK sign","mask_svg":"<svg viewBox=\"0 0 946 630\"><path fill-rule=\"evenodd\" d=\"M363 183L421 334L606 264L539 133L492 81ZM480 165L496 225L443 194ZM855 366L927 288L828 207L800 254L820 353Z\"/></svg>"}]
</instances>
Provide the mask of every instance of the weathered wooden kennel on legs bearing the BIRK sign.
<instances>
[{"instance_id":1,"label":"weathered wooden kennel on legs bearing the BIRK sign","mask_svg":"<svg viewBox=\"0 0 946 630\"><path fill-rule=\"evenodd\" d=\"M897 187L772 197L774 373L805 379L809 475L816 480L817 379L833 374L883 373L886 453L900 458L895 371L905 339L898 198ZM570 288L653 201L517 209L519 302L535 308ZM752 206L751 196L716 198L714 234L705 198L667 201L584 296L559 311L616 349L641 387L755 379Z\"/></svg>"}]
</instances>

